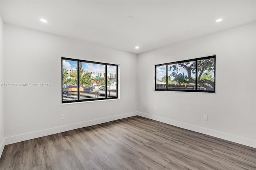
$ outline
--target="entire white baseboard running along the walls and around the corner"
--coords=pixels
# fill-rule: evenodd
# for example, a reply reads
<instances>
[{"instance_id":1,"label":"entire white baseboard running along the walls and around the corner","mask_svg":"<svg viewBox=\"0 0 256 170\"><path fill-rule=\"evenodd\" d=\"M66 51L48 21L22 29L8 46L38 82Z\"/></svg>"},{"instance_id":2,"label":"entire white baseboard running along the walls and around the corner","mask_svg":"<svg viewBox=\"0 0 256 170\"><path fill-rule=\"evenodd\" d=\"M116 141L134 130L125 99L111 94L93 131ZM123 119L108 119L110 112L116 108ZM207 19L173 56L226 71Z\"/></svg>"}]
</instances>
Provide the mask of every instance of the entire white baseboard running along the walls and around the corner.
<instances>
[{"instance_id":1,"label":"entire white baseboard running along the walls and around the corner","mask_svg":"<svg viewBox=\"0 0 256 170\"><path fill-rule=\"evenodd\" d=\"M136 115L139 115L141 117L146 117L148 119L152 119L152 120L155 120L155 121L160 121L160 122L163 122L163 123L167 123L169 125L173 125L173 126L176 126L176 127L192 130L192 131L203 133L203 134L208 134L210 136L214 136L214 137L217 137L217 138L222 138L224 140L228 140L228 141L231 141L231 142L236 142L236 143L239 143L239 144L243 144L243 145L246 145L246 146L256 148L256 140L243 138L241 136L235 136L233 134L228 134L228 133L224 133L224 132L220 132L220 131L216 131L216 130L212 130L212 129L208 129L208 128L204 128L204 127L199 127L199 126L191 125L191 124L188 124L188 123L182 123L182 122L179 122L179 121L174 121L174 120L171 120L171 119L166 119L164 117L158 117L158 116L150 115L150 114L147 114L147 113L132 112L132 113L125 113L125 114L122 114L122 115L115 115L115 116L111 116L111 117L105 117L105 118L101 118L101 119L94 119L94 120L91 120L91 121L74 123L74 124L71 124L71 125L65 125L65 126L61 126L61 127L48 128L48 129L44 129L44 130L29 132L29 133L25 133L25 134L19 134L19 135L15 135L15 136L9 136L9 137L4 138L1 142L1 144L0 144L0 155L2 155L2 152L4 150L4 146L7 145L7 144L12 144L12 143L21 142L21 141L24 141L24 140L29 140L29 139L33 139L33 138L39 138L39 137L42 137L42 136L47 136L47 135L51 135L51 134L65 132L65 131L73 130L73 129L76 129L76 128L98 125L98 124L101 124L101 123L106 123L106 122L110 122L110 121L114 121L114 120L118 120L118 119L123 119L123 118L126 118L126 117L132 117L132 116L136 116Z\"/></svg>"}]
</instances>

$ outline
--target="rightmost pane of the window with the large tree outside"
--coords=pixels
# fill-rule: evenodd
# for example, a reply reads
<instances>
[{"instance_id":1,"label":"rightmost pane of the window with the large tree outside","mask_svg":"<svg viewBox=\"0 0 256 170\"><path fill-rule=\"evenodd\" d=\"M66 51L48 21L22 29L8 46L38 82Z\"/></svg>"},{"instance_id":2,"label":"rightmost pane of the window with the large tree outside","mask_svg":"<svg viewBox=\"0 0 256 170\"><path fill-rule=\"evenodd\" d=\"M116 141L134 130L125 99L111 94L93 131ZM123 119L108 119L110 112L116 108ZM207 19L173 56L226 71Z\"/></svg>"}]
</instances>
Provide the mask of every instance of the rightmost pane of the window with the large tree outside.
<instances>
[{"instance_id":1,"label":"rightmost pane of the window with the large tree outside","mask_svg":"<svg viewBox=\"0 0 256 170\"><path fill-rule=\"evenodd\" d=\"M215 58L201 59L197 61L197 89L204 91L215 90Z\"/></svg>"}]
</instances>

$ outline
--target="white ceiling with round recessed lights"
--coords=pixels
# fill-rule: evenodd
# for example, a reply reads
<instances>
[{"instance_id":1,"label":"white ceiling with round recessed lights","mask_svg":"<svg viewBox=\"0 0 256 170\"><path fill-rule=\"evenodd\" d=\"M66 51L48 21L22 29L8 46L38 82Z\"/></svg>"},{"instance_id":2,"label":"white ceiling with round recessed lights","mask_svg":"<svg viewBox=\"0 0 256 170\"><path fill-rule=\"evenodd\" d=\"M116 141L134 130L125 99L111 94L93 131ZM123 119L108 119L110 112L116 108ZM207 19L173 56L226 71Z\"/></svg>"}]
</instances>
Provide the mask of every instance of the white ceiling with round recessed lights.
<instances>
[{"instance_id":1,"label":"white ceiling with round recessed lights","mask_svg":"<svg viewBox=\"0 0 256 170\"><path fill-rule=\"evenodd\" d=\"M5 23L131 53L255 22L255 11L255 1L1 1Z\"/></svg>"}]
</instances>

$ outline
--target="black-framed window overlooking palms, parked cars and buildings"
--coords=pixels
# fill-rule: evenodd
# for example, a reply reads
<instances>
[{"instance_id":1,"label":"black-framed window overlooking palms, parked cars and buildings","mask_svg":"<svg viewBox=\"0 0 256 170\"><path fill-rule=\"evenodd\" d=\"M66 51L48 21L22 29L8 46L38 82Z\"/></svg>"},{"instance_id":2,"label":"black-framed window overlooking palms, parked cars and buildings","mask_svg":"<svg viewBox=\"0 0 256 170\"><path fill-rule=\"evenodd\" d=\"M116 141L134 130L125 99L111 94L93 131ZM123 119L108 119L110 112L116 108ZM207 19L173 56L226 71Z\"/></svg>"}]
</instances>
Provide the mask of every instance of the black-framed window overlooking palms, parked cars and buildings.
<instances>
[{"instance_id":1,"label":"black-framed window overlooking palms, parked cars and buildings","mask_svg":"<svg viewBox=\"0 0 256 170\"><path fill-rule=\"evenodd\" d=\"M61 58L62 103L117 99L118 65Z\"/></svg>"}]
</instances>

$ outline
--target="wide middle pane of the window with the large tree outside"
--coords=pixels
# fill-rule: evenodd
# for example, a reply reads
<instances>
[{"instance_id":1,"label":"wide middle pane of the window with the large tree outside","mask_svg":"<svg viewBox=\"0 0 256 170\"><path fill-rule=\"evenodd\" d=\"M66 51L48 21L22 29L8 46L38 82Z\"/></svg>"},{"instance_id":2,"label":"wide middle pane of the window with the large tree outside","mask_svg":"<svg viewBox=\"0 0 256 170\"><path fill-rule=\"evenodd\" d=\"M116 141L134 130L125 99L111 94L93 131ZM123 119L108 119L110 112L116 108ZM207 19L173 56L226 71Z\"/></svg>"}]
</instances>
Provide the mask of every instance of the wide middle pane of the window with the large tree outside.
<instances>
[{"instance_id":1,"label":"wide middle pane of the window with the large tree outside","mask_svg":"<svg viewBox=\"0 0 256 170\"><path fill-rule=\"evenodd\" d=\"M196 61L168 65L169 90L196 90Z\"/></svg>"}]
</instances>

